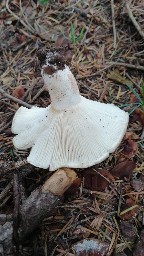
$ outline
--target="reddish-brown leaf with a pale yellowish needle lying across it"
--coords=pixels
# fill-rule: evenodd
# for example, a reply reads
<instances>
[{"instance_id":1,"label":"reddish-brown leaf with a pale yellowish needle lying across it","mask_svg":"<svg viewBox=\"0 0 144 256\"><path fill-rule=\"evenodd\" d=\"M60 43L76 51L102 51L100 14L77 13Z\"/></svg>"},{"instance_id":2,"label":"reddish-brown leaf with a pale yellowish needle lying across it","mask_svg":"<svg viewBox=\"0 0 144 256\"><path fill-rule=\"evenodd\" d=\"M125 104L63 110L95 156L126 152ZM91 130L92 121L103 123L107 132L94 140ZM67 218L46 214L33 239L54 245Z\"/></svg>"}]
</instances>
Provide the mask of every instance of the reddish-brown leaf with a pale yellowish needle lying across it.
<instances>
[{"instance_id":1,"label":"reddish-brown leaf with a pale yellowish needle lying across it","mask_svg":"<svg viewBox=\"0 0 144 256\"><path fill-rule=\"evenodd\" d=\"M138 205L134 200L128 198L125 204L122 205L122 210L120 212L120 218L123 220L130 220L136 217L138 213Z\"/></svg>"}]
</instances>

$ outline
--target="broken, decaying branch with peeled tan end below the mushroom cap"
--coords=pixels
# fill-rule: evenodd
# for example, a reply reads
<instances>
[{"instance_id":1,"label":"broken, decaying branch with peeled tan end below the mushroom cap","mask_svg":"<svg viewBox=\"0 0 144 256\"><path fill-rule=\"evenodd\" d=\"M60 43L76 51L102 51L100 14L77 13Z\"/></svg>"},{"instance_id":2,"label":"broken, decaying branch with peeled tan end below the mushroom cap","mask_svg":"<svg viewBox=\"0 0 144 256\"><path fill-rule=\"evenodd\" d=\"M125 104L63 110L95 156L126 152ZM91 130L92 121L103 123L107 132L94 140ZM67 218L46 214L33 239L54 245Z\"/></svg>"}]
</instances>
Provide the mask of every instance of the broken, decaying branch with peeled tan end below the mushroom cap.
<instances>
[{"instance_id":1,"label":"broken, decaying branch with peeled tan end below the mushroom cap","mask_svg":"<svg viewBox=\"0 0 144 256\"><path fill-rule=\"evenodd\" d=\"M73 170L59 169L41 188L31 193L20 207L18 236L21 242L42 223L44 218L55 212L62 201L63 193L76 178L77 175ZM5 252L4 255L7 255L5 248L12 247L12 234L12 222L0 226L0 244L4 244L0 250Z\"/></svg>"}]
</instances>

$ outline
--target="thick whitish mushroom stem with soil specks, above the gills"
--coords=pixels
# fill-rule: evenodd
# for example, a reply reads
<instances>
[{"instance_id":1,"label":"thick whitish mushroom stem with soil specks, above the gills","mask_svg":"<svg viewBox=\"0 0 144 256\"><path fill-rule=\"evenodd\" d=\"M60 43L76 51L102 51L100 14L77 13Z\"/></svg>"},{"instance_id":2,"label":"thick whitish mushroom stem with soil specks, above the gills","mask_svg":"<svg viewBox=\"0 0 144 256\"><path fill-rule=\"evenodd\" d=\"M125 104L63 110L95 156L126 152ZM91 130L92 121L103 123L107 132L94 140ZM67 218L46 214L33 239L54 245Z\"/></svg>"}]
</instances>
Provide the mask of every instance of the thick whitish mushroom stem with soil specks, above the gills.
<instances>
[{"instance_id":1,"label":"thick whitish mushroom stem with soil specks, above the gills","mask_svg":"<svg viewBox=\"0 0 144 256\"><path fill-rule=\"evenodd\" d=\"M51 106L61 111L78 104L81 97L76 79L69 67L65 65L64 69L57 70L52 75L47 73L48 67L43 66L42 76L51 97Z\"/></svg>"}]
</instances>

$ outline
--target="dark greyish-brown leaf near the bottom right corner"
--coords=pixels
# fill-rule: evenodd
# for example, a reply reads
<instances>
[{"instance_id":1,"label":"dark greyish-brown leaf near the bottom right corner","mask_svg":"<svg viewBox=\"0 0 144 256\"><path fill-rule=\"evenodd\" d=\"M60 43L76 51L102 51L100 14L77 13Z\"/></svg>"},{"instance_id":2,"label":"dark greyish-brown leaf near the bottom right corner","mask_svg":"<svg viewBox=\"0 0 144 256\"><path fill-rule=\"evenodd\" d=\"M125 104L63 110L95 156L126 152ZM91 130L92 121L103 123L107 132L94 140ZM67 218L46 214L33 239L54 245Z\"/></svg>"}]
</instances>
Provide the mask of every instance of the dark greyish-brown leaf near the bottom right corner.
<instances>
[{"instance_id":1,"label":"dark greyish-brown leaf near the bottom right corner","mask_svg":"<svg viewBox=\"0 0 144 256\"><path fill-rule=\"evenodd\" d=\"M137 237L136 227L130 221L121 221L120 229L127 241L133 242ZM138 255L137 255L138 256Z\"/></svg>"}]
</instances>

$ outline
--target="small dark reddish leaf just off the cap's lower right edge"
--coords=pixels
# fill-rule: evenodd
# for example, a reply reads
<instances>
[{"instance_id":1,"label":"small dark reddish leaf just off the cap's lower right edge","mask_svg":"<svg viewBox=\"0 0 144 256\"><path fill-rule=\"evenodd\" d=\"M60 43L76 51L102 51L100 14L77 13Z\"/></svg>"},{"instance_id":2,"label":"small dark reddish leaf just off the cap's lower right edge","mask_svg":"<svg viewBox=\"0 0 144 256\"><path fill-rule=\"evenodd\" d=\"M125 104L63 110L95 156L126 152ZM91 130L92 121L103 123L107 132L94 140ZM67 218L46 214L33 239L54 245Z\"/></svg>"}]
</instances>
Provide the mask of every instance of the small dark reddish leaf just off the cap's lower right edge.
<instances>
[{"instance_id":1,"label":"small dark reddish leaf just off the cap's lower right edge","mask_svg":"<svg viewBox=\"0 0 144 256\"><path fill-rule=\"evenodd\" d=\"M122 150L122 154L131 158L136 155L138 151L137 143L133 140L125 140L124 141L124 148Z\"/></svg>"}]
</instances>

